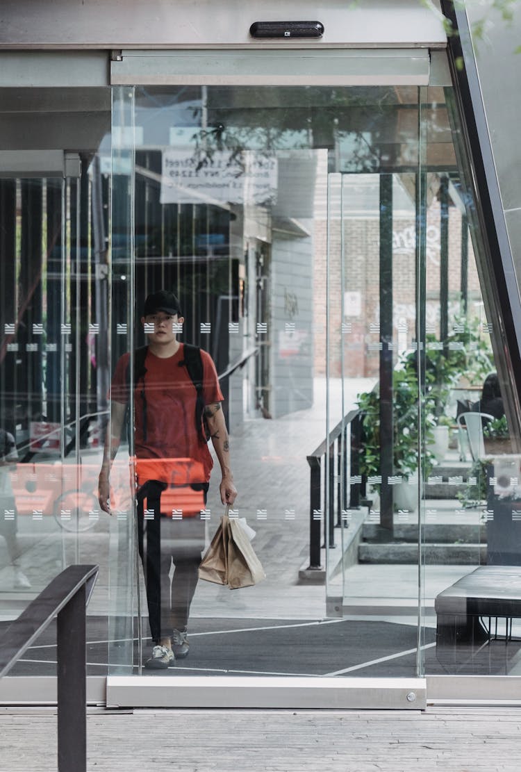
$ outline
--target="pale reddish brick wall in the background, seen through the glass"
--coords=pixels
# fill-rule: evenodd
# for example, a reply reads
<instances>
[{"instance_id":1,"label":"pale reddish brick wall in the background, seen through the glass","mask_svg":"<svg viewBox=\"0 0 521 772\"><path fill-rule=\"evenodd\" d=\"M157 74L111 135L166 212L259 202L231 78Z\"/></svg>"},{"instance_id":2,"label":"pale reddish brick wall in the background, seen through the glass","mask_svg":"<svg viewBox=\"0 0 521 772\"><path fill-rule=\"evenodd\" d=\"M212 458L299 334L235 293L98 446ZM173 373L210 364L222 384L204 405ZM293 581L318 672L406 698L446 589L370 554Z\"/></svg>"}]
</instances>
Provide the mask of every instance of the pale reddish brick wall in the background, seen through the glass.
<instances>
[{"instance_id":1,"label":"pale reddish brick wall in the background, seen through the glass","mask_svg":"<svg viewBox=\"0 0 521 772\"><path fill-rule=\"evenodd\" d=\"M370 377L378 372L379 342L379 262L380 225L377 216L344 218L344 291L349 296L345 315L341 317L342 283L340 266L340 218L330 222L330 374L347 377ZM315 295L315 372L326 371L326 238L327 222L315 222L314 295ZM440 291L440 207L433 201L427 215L427 323L439 332ZM448 291L449 318L458 313L461 287L462 217L456 208L449 209L448 224ZM398 215L393 224L393 298L396 350L411 346L415 338L415 262L416 237L414 217ZM469 311L481 300L479 279L469 240ZM344 325L342 326L342 323Z\"/></svg>"}]
</instances>

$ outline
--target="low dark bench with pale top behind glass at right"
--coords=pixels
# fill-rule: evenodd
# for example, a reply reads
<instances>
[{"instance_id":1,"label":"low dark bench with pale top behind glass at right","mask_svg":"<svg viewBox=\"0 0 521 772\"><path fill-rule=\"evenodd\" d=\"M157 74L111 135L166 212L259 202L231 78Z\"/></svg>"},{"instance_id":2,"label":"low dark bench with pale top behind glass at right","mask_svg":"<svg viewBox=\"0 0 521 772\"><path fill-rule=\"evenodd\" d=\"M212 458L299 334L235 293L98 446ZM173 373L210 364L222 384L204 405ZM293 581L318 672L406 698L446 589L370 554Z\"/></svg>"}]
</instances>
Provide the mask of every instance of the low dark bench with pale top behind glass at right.
<instances>
[{"instance_id":1,"label":"low dark bench with pale top behind glass at right","mask_svg":"<svg viewBox=\"0 0 521 772\"><path fill-rule=\"evenodd\" d=\"M512 621L521 618L521 567L476 568L438 594L435 611L436 657L445 668L457 669L500 637L499 619L505 620L506 642L513 639Z\"/></svg>"}]
</instances>

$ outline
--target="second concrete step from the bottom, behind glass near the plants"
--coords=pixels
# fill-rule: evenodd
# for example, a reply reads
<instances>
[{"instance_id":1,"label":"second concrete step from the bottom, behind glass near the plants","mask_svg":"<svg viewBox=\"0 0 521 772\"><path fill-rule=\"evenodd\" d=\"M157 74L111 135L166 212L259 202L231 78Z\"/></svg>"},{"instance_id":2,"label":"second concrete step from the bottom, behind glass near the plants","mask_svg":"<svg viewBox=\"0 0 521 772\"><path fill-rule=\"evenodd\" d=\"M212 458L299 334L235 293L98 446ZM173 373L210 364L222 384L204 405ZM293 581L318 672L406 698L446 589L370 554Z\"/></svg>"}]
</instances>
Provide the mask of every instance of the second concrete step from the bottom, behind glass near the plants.
<instances>
[{"instance_id":1,"label":"second concrete step from the bottom, behind glass near the plants","mask_svg":"<svg viewBox=\"0 0 521 772\"><path fill-rule=\"evenodd\" d=\"M421 528L423 543L485 543L485 523L426 523ZM389 531L377 523L364 523L362 541L389 543ZM418 543L418 523L394 523L393 541Z\"/></svg>"}]
</instances>

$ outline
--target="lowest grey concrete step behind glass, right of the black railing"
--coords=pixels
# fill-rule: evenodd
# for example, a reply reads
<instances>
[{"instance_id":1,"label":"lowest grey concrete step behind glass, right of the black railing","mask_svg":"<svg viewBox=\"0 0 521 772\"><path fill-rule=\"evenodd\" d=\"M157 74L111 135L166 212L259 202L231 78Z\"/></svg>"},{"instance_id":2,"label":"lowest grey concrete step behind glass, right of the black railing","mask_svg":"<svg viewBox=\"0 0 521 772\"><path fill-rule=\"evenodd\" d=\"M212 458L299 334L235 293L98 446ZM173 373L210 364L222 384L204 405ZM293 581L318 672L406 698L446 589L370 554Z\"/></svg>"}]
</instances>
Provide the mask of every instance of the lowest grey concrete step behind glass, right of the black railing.
<instances>
[{"instance_id":1,"label":"lowest grey concrete step behind glass, right of the black railing","mask_svg":"<svg viewBox=\"0 0 521 772\"><path fill-rule=\"evenodd\" d=\"M487 558L486 544L434 544L422 547L425 564L431 565L479 565ZM361 543L358 547L359 563L418 563L418 544L404 542Z\"/></svg>"}]
</instances>

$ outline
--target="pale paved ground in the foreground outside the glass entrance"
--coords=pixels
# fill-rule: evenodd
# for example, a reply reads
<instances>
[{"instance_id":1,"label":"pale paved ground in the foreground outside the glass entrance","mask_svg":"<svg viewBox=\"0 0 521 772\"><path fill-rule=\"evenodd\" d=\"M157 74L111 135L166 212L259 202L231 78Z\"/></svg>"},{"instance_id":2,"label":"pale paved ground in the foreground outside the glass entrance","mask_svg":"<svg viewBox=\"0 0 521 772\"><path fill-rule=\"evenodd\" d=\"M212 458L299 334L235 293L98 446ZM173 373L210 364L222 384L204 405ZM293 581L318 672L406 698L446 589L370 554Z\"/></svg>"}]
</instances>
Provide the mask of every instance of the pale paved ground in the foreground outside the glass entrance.
<instances>
[{"instance_id":1,"label":"pale paved ground in the foreground outside the glass entrance","mask_svg":"<svg viewBox=\"0 0 521 772\"><path fill-rule=\"evenodd\" d=\"M30 723L29 723L30 722ZM89 772L514 772L521 709L91 710ZM0 713L2 772L56 770L56 715Z\"/></svg>"}]
</instances>

